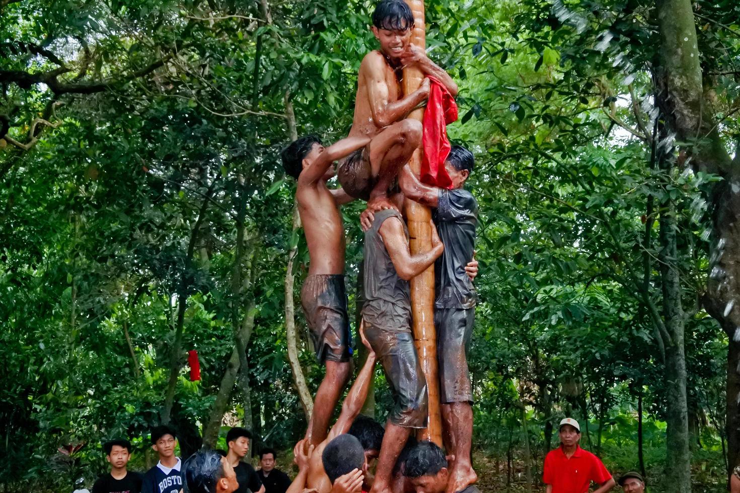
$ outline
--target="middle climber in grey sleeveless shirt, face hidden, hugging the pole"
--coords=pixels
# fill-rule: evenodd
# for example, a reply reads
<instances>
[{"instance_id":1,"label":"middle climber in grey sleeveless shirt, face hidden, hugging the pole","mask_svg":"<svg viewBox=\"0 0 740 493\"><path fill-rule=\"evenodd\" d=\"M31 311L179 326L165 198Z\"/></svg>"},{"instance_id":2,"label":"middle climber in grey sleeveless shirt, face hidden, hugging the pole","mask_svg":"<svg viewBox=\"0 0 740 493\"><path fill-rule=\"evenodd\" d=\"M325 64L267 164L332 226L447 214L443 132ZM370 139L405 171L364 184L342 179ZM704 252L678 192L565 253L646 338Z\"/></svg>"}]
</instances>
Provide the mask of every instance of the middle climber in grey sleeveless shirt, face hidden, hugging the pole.
<instances>
[{"instance_id":1,"label":"middle climber in grey sleeveless shirt, face hidden, hugging the pole","mask_svg":"<svg viewBox=\"0 0 740 493\"><path fill-rule=\"evenodd\" d=\"M426 426L428 395L411 334L408 280L425 271L444 250L434 225L431 230L431 251L413 256L406 224L395 209L376 212L365 233L364 332L383 364L394 398L371 493L386 492L411 429Z\"/></svg>"}]
</instances>

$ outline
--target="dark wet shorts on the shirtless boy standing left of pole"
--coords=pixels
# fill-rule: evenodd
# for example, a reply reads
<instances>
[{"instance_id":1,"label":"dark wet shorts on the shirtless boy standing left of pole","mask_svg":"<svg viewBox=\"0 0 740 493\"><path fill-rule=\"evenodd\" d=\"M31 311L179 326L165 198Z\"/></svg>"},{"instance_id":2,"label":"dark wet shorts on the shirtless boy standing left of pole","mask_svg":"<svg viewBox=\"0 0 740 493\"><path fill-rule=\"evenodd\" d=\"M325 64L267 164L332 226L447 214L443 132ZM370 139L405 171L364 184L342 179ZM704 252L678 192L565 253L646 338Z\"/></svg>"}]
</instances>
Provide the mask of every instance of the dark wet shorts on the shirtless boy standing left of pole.
<instances>
[{"instance_id":1,"label":"dark wet shorts on the shirtless boy standing left of pole","mask_svg":"<svg viewBox=\"0 0 740 493\"><path fill-rule=\"evenodd\" d=\"M306 277L300 290L300 304L309 322L319 361L349 361L351 335L344 276L314 274Z\"/></svg>"}]
</instances>

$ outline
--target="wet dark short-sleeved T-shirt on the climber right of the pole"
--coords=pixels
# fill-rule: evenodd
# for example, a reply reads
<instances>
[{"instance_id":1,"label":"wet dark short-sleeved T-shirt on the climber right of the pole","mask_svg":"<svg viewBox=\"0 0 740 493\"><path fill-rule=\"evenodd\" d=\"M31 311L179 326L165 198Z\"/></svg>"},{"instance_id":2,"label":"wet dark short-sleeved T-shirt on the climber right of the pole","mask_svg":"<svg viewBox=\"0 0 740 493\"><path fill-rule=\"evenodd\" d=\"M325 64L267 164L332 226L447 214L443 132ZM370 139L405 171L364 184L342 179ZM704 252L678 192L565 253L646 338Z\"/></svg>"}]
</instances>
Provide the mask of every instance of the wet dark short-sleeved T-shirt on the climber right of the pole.
<instances>
[{"instance_id":1,"label":"wet dark short-sleeved T-shirt on the climber right of the pole","mask_svg":"<svg viewBox=\"0 0 740 493\"><path fill-rule=\"evenodd\" d=\"M473 282L465 273L465 265L473 259L475 228L478 224L478 203L463 188L440 190L434 224L445 251L434 262L437 284L437 308L472 308L477 302Z\"/></svg>"}]
</instances>

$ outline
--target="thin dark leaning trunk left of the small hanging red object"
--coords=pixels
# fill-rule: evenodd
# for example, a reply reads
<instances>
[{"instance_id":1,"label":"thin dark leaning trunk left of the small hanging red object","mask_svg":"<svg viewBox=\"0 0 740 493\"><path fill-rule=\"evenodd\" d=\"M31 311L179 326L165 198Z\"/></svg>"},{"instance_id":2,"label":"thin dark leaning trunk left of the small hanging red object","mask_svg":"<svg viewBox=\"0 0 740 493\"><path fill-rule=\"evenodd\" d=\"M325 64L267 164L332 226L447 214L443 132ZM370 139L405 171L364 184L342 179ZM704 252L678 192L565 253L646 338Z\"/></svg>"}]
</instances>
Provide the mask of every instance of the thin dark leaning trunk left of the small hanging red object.
<instances>
[{"instance_id":1,"label":"thin dark leaning trunk left of the small hanging red object","mask_svg":"<svg viewBox=\"0 0 740 493\"><path fill-rule=\"evenodd\" d=\"M164 407L161 413L162 424L169 424L172 418L172 406L175 404L175 387L178 384L178 375L182 367L182 339L183 339L183 326L185 324L185 309L187 307L187 296L189 294L190 286L192 285L192 256L195 252L195 242L198 241L198 233L201 231L201 225L206 217L206 211L208 210L208 203L213 195L217 180L213 180L211 186L208 187L205 198L201 205L201 210L198 211L198 219L195 220L195 225L190 233L190 241L187 245L187 252L185 254L185 262L183 267L183 275L180 281L180 288L178 289L178 318L175 323L175 340L172 342L172 351L169 354L169 381L167 382L167 390L164 397Z\"/></svg>"}]
</instances>

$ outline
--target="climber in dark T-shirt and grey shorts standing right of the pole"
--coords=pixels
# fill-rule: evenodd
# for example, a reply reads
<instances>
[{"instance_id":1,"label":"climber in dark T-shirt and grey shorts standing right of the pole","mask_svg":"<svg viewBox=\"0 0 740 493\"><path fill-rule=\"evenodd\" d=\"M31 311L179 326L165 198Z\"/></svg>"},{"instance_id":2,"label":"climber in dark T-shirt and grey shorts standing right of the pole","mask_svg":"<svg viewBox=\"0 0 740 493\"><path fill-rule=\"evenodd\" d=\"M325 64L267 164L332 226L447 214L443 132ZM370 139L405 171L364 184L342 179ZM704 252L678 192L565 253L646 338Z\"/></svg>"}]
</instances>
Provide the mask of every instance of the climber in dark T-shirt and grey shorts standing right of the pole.
<instances>
[{"instance_id":1,"label":"climber in dark T-shirt and grey shorts standing right of the pole","mask_svg":"<svg viewBox=\"0 0 740 493\"><path fill-rule=\"evenodd\" d=\"M465 190L474 167L473 154L454 146L445 160L452 188L420 183L408 166L400 172L398 184L411 200L434 208L434 224L445 251L434 265L437 299L434 326L437 328L437 358L440 368L443 438L447 453L454 455L449 471L449 492L460 492L478 479L470 462L473 435L473 391L468 372L470 344L477 295L465 265L472 258L478 203Z\"/></svg>"}]
</instances>

